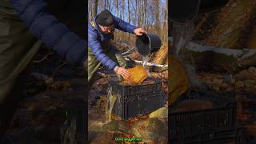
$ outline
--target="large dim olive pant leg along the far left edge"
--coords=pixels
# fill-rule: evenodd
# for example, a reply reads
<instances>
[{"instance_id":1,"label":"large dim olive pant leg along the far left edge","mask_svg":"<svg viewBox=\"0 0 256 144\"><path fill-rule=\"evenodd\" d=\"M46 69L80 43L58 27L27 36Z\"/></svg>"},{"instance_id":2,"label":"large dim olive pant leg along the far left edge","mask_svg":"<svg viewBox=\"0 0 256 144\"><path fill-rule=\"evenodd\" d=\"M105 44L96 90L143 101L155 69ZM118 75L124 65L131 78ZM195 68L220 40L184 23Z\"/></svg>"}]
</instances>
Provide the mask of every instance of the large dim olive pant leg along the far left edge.
<instances>
[{"instance_id":1,"label":"large dim olive pant leg along the far left edge","mask_svg":"<svg viewBox=\"0 0 256 144\"><path fill-rule=\"evenodd\" d=\"M0 138L21 98L21 74L41 46L15 13L0 8Z\"/></svg>"}]
</instances>

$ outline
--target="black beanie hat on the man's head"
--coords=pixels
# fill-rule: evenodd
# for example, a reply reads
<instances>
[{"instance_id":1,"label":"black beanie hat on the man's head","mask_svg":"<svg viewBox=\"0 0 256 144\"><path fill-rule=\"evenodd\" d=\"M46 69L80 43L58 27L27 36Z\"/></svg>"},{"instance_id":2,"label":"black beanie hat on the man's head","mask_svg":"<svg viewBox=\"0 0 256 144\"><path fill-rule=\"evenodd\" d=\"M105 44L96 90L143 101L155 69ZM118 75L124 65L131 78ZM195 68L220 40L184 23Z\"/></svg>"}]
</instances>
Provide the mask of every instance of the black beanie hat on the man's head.
<instances>
[{"instance_id":1,"label":"black beanie hat on the man's head","mask_svg":"<svg viewBox=\"0 0 256 144\"><path fill-rule=\"evenodd\" d=\"M96 23L100 26L111 26L114 24L114 16L109 10L103 10L96 18Z\"/></svg>"}]
</instances>

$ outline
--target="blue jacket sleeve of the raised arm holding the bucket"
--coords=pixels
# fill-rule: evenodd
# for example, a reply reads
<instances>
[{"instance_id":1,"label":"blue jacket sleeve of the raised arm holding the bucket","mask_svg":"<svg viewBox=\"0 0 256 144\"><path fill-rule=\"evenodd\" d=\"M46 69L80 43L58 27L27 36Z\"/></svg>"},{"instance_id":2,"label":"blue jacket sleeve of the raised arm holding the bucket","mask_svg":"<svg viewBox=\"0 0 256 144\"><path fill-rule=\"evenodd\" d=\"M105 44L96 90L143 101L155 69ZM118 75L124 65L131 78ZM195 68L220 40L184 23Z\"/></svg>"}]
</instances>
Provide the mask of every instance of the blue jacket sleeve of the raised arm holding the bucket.
<instances>
[{"instance_id":1,"label":"blue jacket sleeve of the raised arm holding the bucket","mask_svg":"<svg viewBox=\"0 0 256 144\"><path fill-rule=\"evenodd\" d=\"M118 30L122 30L129 33L134 33L136 26L131 25L130 23L124 22L122 19L114 17L114 22L117 25Z\"/></svg>"}]
</instances>

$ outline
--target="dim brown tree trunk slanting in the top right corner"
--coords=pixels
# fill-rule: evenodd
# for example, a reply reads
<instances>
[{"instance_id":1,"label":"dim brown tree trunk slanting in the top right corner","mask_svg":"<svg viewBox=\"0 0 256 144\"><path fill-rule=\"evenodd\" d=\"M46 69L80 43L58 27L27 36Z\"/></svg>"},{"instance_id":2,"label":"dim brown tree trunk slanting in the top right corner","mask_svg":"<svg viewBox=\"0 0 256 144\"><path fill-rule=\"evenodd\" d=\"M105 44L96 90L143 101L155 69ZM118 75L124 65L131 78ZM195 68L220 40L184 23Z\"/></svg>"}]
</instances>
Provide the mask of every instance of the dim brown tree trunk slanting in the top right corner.
<instances>
[{"instance_id":1,"label":"dim brown tree trunk slanting in the top right corner","mask_svg":"<svg viewBox=\"0 0 256 144\"><path fill-rule=\"evenodd\" d=\"M218 14L217 26L206 38L206 45L240 48L255 15L255 0L230 0Z\"/></svg>"}]
</instances>

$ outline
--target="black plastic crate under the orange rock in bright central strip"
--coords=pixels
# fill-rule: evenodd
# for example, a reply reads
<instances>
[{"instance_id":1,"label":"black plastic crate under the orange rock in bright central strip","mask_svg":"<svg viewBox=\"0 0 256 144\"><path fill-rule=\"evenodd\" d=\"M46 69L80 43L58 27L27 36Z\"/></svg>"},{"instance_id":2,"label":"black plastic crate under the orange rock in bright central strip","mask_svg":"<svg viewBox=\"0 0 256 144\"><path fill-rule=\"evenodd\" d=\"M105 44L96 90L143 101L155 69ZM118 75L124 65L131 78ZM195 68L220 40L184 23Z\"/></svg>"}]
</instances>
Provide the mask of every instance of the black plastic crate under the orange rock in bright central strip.
<instances>
[{"instance_id":1,"label":"black plastic crate under the orange rock in bright central strip","mask_svg":"<svg viewBox=\"0 0 256 144\"><path fill-rule=\"evenodd\" d=\"M118 95L114 102L113 114L122 119L133 118L138 115L148 114L163 106L164 96L162 82L158 78L149 78L154 83L138 86L122 86L118 82L110 82L112 94Z\"/></svg>"}]
</instances>

